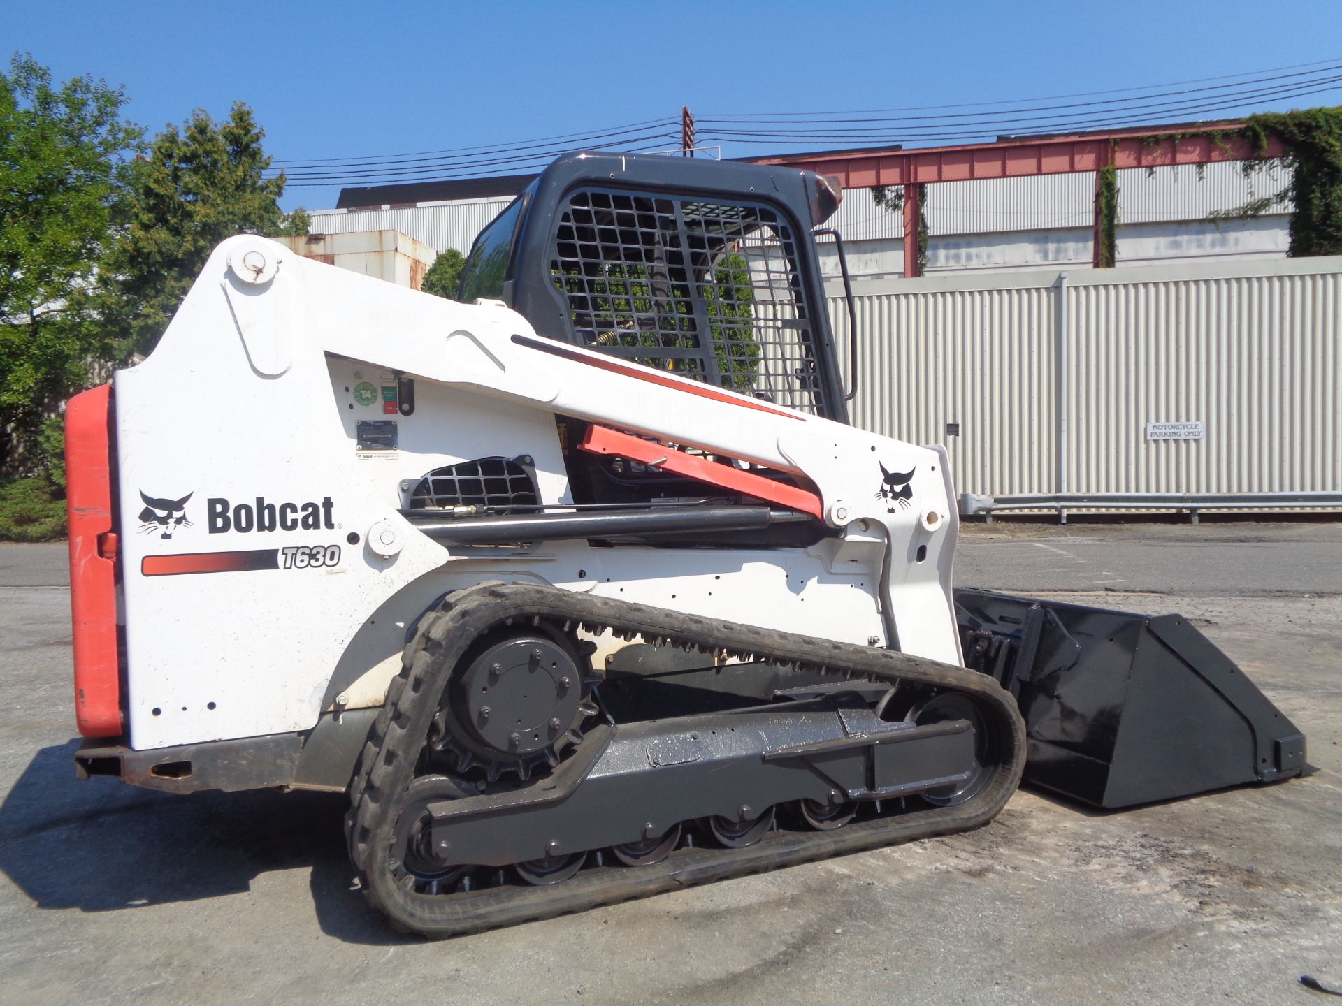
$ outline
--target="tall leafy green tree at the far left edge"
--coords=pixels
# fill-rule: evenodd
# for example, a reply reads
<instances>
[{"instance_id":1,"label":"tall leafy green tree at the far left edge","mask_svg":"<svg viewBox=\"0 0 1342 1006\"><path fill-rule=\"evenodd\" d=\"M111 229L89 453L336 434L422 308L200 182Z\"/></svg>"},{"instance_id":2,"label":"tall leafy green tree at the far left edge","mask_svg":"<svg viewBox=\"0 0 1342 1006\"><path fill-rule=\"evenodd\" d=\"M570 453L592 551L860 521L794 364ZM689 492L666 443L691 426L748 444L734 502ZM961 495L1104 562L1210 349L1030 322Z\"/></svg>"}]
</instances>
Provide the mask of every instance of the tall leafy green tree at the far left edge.
<instances>
[{"instance_id":1,"label":"tall leafy green tree at the far left edge","mask_svg":"<svg viewBox=\"0 0 1342 1006\"><path fill-rule=\"evenodd\" d=\"M126 97L76 76L59 87L30 55L0 74L0 439L7 467L32 468L59 444L13 456L87 380L99 327L89 311L95 263L125 212L142 131ZM48 424L50 425L50 424ZM5 432L8 431L8 432ZM50 433L50 431L48 431ZM50 449L48 449L50 448Z\"/></svg>"}]
</instances>

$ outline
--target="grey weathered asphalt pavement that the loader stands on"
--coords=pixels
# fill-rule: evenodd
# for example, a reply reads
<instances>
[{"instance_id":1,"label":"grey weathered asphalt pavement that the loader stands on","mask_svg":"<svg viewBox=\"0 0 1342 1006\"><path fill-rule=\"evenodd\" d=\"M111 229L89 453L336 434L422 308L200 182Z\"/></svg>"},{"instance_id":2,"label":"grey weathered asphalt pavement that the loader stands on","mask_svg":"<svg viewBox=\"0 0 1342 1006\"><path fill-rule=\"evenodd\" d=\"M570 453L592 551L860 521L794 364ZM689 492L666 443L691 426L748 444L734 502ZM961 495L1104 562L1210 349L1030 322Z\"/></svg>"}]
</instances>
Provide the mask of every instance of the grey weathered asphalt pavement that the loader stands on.
<instances>
[{"instance_id":1,"label":"grey weathered asphalt pavement that the loader stands on","mask_svg":"<svg viewBox=\"0 0 1342 1006\"><path fill-rule=\"evenodd\" d=\"M969 527L958 579L1182 610L1321 773L444 943L352 883L344 798L76 782L64 546L0 546L0 1002L1326 1002L1342 986L1342 526Z\"/></svg>"}]
</instances>

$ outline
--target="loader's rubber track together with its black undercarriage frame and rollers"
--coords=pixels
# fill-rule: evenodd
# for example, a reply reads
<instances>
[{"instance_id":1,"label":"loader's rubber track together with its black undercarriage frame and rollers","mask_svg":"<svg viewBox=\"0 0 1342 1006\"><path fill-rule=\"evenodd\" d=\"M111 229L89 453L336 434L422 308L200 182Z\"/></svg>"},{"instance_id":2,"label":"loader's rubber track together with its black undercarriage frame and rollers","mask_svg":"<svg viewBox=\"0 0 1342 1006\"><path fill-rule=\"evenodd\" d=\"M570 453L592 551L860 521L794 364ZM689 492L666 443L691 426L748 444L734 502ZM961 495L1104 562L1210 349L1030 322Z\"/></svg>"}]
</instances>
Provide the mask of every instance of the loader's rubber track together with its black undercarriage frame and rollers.
<instances>
[{"instance_id":1,"label":"loader's rubber track together with its black undercarriage frame and rollers","mask_svg":"<svg viewBox=\"0 0 1342 1006\"><path fill-rule=\"evenodd\" d=\"M603 718L554 773L497 785L476 773L472 786L427 766L425 738L471 640L507 626L613 630L811 683L778 696L781 711ZM888 714L890 696L903 716L876 714L880 699ZM957 704L929 708L946 696ZM702 785L725 766L731 786ZM1020 716L984 675L552 588L482 586L451 596L408 644L346 824L370 900L401 928L448 936L974 828L1000 810L1023 767ZM695 820L706 824L698 844Z\"/></svg>"}]
</instances>

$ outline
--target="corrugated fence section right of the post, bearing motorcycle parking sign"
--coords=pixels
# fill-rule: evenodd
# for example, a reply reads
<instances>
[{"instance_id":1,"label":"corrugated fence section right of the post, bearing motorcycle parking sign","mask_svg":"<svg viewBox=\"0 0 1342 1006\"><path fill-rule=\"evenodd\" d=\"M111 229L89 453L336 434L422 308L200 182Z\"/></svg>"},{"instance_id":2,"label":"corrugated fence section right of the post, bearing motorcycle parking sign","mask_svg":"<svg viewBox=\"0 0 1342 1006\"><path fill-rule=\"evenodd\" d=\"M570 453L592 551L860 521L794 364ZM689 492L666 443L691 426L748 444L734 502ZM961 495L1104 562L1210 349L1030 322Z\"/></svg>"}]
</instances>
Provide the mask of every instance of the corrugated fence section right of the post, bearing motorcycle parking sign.
<instances>
[{"instance_id":1,"label":"corrugated fence section right of the post, bearing motorcycle parking sign","mask_svg":"<svg viewBox=\"0 0 1342 1006\"><path fill-rule=\"evenodd\" d=\"M1261 264L1071 284L1068 491L1342 490L1342 275ZM1147 423L1202 436L1147 440Z\"/></svg>"}]
</instances>

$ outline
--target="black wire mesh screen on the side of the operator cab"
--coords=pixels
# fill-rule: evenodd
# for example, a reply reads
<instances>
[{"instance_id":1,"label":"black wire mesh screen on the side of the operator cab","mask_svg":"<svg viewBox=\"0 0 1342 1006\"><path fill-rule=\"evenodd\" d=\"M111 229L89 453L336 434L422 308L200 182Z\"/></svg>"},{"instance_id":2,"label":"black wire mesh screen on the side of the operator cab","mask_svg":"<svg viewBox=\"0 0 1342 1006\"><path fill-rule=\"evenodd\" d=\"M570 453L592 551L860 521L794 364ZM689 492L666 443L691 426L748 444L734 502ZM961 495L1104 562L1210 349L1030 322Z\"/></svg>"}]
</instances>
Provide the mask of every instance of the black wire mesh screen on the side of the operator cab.
<instances>
[{"instance_id":1,"label":"black wire mesh screen on the side of the operator cab","mask_svg":"<svg viewBox=\"0 0 1342 1006\"><path fill-rule=\"evenodd\" d=\"M769 207L580 189L552 251L552 280L585 345L821 409L797 248Z\"/></svg>"}]
</instances>

